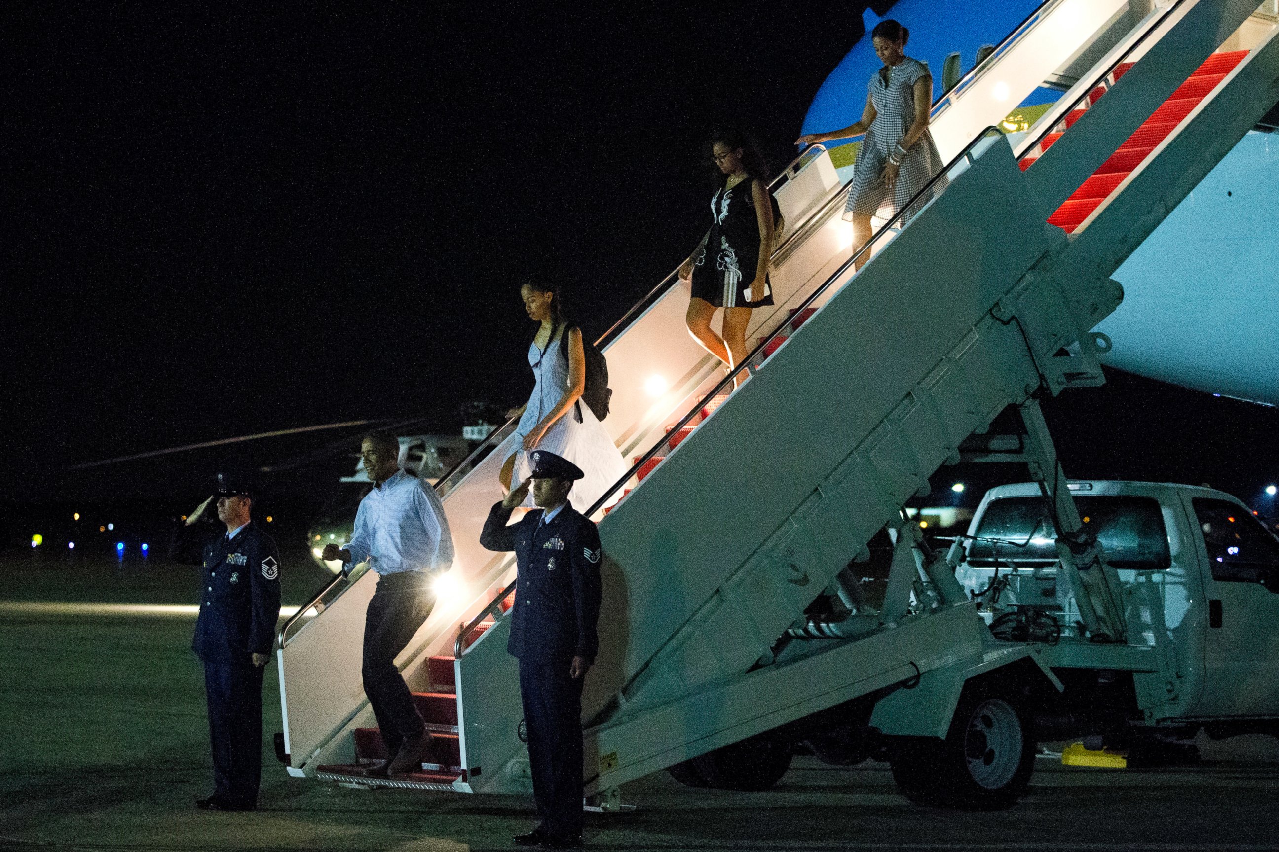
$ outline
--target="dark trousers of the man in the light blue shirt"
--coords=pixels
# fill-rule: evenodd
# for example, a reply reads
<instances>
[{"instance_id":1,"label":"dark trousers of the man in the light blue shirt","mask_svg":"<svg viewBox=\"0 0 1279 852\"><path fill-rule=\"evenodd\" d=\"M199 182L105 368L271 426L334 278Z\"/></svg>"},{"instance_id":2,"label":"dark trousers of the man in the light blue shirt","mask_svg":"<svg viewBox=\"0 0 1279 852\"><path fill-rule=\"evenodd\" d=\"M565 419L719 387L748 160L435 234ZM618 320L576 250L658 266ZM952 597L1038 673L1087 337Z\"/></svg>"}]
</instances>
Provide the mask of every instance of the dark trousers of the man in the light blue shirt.
<instances>
[{"instance_id":1,"label":"dark trousers of the man in the light blue shirt","mask_svg":"<svg viewBox=\"0 0 1279 852\"><path fill-rule=\"evenodd\" d=\"M431 614L435 597L430 579L421 571L382 575L377 579L365 616L365 663L361 669L365 695L373 706L382 742L391 757L404 737L425 731L408 685L395 668L395 655L404 650Z\"/></svg>"}]
</instances>

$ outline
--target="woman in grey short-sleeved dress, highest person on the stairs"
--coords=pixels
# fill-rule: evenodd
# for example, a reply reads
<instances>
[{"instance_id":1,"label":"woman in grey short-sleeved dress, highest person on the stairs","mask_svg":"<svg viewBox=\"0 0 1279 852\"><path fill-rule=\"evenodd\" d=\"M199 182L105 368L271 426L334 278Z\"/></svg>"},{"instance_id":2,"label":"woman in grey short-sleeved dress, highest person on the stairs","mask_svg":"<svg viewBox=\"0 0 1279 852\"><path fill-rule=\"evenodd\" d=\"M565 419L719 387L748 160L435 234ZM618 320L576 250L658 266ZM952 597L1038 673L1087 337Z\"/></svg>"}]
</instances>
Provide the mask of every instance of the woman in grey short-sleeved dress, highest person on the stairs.
<instances>
[{"instance_id":1,"label":"woman in grey short-sleeved dress, highest person on the stairs","mask_svg":"<svg viewBox=\"0 0 1279 852\"><path fill-rule=\"evenodd\" d=\"M929 133L932 106L932 74L923 63L906 55L911 32L895 20L881 20L871 31L875 55L884 63L870 79L866 110L857 124L830 133L810 133L797 144L843 139L865 133L853 165L853 183L844 207L844 218L853 222L853 245L871 238L871 217L891 217L929 183L941 167L941 156ZM945 178L920 198L902 217L902 224L917 213ZM863 254L857 266L866 262Z\"/></svg>"}]
</instances>

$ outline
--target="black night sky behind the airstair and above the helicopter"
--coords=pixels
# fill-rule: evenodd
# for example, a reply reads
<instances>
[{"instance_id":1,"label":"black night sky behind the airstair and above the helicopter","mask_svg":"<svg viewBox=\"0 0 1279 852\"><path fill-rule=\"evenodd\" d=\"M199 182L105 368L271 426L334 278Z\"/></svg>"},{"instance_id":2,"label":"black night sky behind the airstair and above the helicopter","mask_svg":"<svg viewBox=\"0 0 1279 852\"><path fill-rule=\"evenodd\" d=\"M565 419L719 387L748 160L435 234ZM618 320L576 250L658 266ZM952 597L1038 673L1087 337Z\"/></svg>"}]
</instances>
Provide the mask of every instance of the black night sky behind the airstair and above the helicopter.
<instances>
[{"instance_id":1,"label":"black night sky behind the airstair and above the helicopter","mask_svg":"<svg viewBox=\"0 0 1279 852\"><path fill-rule=\"evenodd\" d=\"M8 5L0 496L101 487L59 473L95 459L518 404L521 277L560 276L602 332L700 236L711 128L784 165L863 8ZM1256 447L1276 425L1124 381L1078 411L1143 393L1129 416L1189 418L1223 460L1232 429ZM1081 475L1118 475L1126 447Z\"/></svg>"}]
</instances>

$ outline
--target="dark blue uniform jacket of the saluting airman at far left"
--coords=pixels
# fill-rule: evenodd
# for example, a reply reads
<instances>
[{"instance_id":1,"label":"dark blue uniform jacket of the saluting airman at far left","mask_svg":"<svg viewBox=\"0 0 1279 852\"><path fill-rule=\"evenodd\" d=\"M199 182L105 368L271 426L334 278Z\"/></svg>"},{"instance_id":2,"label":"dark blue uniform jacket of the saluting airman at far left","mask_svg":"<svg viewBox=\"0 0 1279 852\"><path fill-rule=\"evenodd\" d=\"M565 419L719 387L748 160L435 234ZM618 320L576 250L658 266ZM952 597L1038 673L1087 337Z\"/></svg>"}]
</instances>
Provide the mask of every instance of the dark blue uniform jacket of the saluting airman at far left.
<instances>
[{"instance_id":1,"label":"dark blue uniform jacket of the saluting airman at far left","mask_svg":"<svg viewBox=\"0 0 1279 852\"><path fill-rule=\"evenodd\" d=\"M249 521L235 538L223 530L193 558L194 526L179 530L174 558L202 563L200 617L192 649L207 663L244 663L270 654L280 617L280 554L275 539Z\"/></svg>"}]
</instances>

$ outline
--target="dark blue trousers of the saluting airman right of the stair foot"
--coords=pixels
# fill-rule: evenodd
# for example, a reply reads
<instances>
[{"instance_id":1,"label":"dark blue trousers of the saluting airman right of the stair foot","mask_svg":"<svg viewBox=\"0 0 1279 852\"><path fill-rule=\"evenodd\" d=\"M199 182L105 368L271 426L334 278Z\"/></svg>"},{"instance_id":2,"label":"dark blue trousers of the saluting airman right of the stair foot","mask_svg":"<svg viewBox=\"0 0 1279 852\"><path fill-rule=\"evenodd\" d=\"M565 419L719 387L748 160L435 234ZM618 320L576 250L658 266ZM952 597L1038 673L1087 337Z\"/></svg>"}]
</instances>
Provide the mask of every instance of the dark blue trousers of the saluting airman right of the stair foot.
<instances>
[{"instance_id":1,"label":"dark blue trousers of the saluting airman right of the stair foot","mask_svg":"<svg viewBox=\"0 0 1279 852\"><path fill-rule=\"evenodd\" d=\"M519 658L528 764L541 829L553 837L582 834L582 682L569 677L572 658Z\"/></svg>"}]
</instances>

